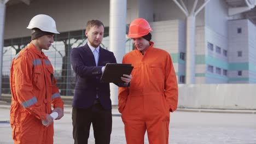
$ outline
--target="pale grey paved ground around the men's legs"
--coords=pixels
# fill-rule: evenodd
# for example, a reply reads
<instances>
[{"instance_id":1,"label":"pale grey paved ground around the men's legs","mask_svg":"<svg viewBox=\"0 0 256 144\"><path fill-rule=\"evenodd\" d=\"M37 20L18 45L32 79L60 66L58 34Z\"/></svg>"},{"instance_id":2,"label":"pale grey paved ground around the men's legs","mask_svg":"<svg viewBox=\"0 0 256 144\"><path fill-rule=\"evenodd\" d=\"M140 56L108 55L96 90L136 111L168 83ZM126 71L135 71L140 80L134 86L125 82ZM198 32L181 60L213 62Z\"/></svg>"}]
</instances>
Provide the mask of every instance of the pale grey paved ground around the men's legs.
<instances>
[{"instance_id":1,"label":"pale grey paved ground around the men's legs","mask_svg":"<svg viewBox=\"0 0 256 144\"><path fill-rule=\"evenodd\" d=\"M201 111L201 112L199 112ZM202 112L203 111L203 112ZM9 121L8 106L0 105L0 121ZM110 143L126 143L124 125L117 109L113 109L113 131ZM54 143L73 143L71 107L55 121ZM179 110L171 113L172 144L256 144L256 112L226 110ZM0 123L0 144L13 143L9 124ZM94 143L91 131L89 143ZM145 143L148 143L145 136Z\"/></svg>"}]
</instances>

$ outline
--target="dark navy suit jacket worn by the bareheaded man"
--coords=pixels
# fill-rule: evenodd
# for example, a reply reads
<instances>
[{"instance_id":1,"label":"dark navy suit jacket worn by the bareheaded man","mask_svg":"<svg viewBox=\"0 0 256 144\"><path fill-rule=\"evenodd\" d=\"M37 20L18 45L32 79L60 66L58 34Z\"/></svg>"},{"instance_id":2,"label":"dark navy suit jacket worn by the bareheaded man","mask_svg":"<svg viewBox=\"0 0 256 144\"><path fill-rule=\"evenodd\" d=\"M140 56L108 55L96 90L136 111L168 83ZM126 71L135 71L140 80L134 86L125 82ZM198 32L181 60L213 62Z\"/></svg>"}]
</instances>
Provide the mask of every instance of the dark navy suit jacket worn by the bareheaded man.
<instances>
[{"instance_id":1,"label":"dark navy suit jacket worn by the bareheaded man","mask_svg":"<svg viewBox=\"0 0 256 144\"><path fill-rule=\"evenodd\" d=\"M86 109L94 104L96 93L104 109L112 109L109 83L101 83L101 68L107 63L117 63L114 53L100 47L98 66L94 54L86 43L71 50L71 64L76 74L73 107Z\"/></svg>"}]
</instances>

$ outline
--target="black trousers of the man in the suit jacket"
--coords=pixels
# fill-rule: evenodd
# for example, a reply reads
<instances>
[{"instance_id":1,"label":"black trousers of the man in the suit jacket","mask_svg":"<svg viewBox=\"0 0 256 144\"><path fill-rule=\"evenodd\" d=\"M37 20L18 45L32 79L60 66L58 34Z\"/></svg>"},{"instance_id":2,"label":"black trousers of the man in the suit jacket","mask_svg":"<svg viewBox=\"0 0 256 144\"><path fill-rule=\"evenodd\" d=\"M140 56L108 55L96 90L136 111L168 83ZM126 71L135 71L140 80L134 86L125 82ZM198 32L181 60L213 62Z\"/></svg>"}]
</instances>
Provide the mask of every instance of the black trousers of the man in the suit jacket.
<instances>
[{"instance_id":1,"label":"black trousers of the man in the suit jacket","mask_svg":"<svg viewBox=\"0 0 256 144\"><path fill-rule=\"evenodd\" d=\"M105 110L101 104L94 104L88 109L72 110L74 144L87 144L90 127L94 128L95 144L109 144L112 131L112 110Z\"/></svg>"}]
</instances>

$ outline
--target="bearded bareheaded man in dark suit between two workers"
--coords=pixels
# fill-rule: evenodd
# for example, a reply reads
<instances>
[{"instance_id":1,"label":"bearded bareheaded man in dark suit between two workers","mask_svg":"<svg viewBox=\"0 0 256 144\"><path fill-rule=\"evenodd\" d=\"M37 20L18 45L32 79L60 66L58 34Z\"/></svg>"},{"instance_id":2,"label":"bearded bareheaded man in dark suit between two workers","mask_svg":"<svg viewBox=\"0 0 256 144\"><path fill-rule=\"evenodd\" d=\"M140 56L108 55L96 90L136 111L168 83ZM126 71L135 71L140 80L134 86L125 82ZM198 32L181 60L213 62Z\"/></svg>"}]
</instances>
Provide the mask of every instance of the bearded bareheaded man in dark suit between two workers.
<instances>
[{"instance_id":1,"label":"bearded bareheaded man in dark suit between two workers","mask_svg":"<svg viewBox=\"0 0 256 144\"><path fill-rule=\"evenodd\" d=\"M91 20L86 25L88 43L71 51L71 64L76 73L73 98L73 138L75 144L88 143L90 125L94 128L96 144L110 143L112 104L109 83L100 78L107 63L117 63L114 53L103 49L104 25ZM123 75L118 86L129 86L131 75Z\"/></svg>"}]
</instances>

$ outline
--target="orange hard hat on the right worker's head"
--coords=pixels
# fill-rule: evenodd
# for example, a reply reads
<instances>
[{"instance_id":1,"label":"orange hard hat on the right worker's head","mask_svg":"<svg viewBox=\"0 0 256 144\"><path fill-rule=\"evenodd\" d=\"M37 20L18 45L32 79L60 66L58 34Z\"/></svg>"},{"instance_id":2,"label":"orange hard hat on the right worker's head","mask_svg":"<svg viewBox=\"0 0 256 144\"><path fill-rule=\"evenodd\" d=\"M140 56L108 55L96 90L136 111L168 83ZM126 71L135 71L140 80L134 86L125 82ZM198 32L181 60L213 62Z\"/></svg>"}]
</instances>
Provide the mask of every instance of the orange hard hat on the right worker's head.
<instances>
[{"instance_id":1,"label":"orange hard hat on the right worker's head","mask_svg":"<svg viewBox=\"0 0 256 144\"><path fill-rule=\"evenodd\" d=\"M145 19L138 18L131 22L127 37L139 38L147 35L151 31L152 28L149 26L149 23Z\"/></svg>"}]
</instances>

